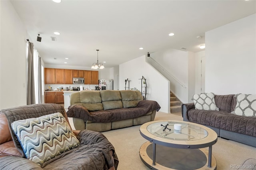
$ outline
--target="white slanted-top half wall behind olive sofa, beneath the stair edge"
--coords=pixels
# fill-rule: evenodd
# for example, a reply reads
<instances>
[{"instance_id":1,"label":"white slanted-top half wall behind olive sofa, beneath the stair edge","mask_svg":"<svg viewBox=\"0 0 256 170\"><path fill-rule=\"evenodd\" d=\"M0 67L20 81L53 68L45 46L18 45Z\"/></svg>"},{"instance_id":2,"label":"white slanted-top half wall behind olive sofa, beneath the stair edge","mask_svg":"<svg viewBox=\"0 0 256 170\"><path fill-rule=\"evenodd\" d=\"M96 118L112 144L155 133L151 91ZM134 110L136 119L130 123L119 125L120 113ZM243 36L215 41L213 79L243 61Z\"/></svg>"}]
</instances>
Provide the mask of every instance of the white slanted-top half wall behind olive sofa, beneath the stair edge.
<instances>
[{"instance_id":1,"label":"white slanted-top half wall behind olive sofa, beneath the stair edge","mask_svg":"<svg viewBox=\"0 0 256 170\"><path fill-rule=\"evenodd\" d=\"M131 80L130 88L136 87L141 91L141 80L139 79L143 75L148 84L147 100L157 101L161 106L161 112L170 113L170 81L146 63L145 57L143 55L119 65L120 90L124 90L125 80L128 78Z\"/></svg>"}]
</instances>

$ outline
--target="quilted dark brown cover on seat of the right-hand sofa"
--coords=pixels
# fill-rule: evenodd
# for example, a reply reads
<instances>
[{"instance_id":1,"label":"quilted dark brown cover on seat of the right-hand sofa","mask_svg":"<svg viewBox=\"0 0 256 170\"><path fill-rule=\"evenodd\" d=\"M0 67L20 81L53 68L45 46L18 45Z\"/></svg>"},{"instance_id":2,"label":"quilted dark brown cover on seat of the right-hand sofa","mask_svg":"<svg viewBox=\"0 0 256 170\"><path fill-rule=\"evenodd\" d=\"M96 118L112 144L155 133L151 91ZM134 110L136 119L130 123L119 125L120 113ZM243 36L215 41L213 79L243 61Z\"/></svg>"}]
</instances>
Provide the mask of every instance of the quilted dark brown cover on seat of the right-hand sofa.
<instances>
[{"instance_id":1,"label":"quilted dark brown cover on seat of the right-hand sofa","mask_svg":"<svg viewBox=\"0 0 256 170\"><path fill-rule=\"evenodd\" d=\"M193 123L256 137L256 117L234 115L227 111L191 109L188 111L187 118Z\"/></svg>"}]
</instances>

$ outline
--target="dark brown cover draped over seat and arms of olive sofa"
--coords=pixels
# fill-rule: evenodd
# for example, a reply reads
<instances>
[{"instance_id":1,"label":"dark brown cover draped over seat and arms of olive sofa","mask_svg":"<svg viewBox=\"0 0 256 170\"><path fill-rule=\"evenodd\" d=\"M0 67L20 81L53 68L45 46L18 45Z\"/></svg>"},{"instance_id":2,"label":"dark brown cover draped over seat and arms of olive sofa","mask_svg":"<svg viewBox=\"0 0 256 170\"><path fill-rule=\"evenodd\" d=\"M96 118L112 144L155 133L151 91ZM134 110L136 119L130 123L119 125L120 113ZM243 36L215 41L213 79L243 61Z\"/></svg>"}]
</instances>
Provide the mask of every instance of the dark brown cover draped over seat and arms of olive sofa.
<instances>
[{"instance_id":1,"label":"dark brown cover draped over seat and arms of olive sofa","mask_svg":"<svg viewBox=\"0 0 256 170\"><path fill-rule=\"evenodd\" d=\"M76 117L84 119L85 121L104 123L140 117L154 109L159 111L160 108L160 105L156 101L150 100L139 101L137 107L133 108L101 110L94 112L89 112L81 105L71 105L68 107L67 115L68 117Z\"/></svg>"}]
</instances>

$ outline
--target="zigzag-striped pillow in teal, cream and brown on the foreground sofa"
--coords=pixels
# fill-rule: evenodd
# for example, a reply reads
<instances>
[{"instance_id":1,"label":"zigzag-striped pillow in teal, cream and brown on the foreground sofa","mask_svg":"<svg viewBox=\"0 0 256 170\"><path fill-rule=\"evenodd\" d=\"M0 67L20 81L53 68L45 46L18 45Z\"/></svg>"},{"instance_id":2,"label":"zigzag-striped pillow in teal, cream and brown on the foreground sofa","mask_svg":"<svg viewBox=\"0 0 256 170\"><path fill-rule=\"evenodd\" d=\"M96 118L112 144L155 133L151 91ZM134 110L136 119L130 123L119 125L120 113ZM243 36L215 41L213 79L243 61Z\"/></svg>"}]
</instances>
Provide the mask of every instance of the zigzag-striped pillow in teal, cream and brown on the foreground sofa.
<instances>
[{"instance_id":1,"label":"zigzag-striped pillow in teal, cream and brown on the foreground sofa","mask_svg":"<svg viewBox=\"0 0 256 170\"><path fill-rule=\"evenodd\" d=\"M12 130L26 158L41 167L47 160L80 144L61 113L15 121Z\"/></svg>"}]
</instances>

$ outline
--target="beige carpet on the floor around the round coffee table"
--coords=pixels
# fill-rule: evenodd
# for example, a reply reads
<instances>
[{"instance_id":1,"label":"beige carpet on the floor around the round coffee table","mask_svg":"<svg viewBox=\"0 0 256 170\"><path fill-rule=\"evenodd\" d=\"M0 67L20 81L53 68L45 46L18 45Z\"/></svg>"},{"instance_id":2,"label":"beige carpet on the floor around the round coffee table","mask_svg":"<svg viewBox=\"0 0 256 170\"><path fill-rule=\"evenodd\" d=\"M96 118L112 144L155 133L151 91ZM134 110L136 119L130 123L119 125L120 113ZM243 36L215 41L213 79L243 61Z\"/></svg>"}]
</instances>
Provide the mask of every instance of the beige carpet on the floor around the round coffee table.
<instances>
[{"instance_id":1,"label":"beige carpet on the floor around the round coffee table","mask_svg":"<svg viewBox=\"0 0 256 170\"><path fill-rule=\"evenodd\" d=\"M181 113L157 112L155 120L182 121L182 116ZM102 132L116 149L119 159L118 170L150 170L140 160L140 146L147 140L140 135L139 129L140 125ZM216 158L218 170L234 169L230 166L240 166L250 158L254 159L245 164L256 165L256 148L232 140L218 138L218 142L212 146L212 153ZM254 169L256 170L256 166Z\"/></svg>"}]
</instances>

